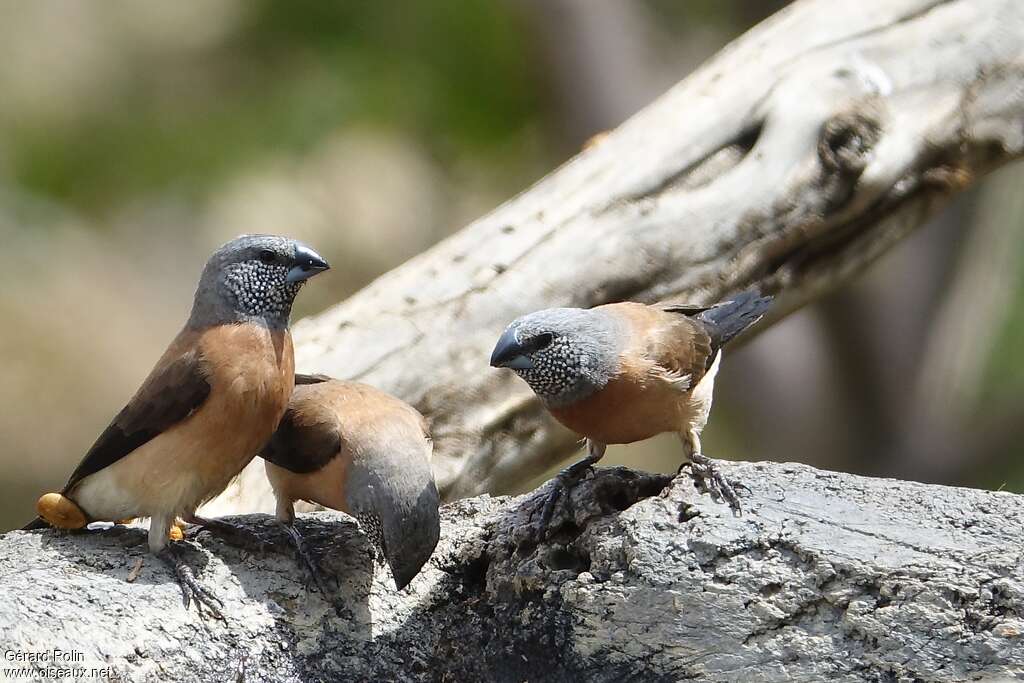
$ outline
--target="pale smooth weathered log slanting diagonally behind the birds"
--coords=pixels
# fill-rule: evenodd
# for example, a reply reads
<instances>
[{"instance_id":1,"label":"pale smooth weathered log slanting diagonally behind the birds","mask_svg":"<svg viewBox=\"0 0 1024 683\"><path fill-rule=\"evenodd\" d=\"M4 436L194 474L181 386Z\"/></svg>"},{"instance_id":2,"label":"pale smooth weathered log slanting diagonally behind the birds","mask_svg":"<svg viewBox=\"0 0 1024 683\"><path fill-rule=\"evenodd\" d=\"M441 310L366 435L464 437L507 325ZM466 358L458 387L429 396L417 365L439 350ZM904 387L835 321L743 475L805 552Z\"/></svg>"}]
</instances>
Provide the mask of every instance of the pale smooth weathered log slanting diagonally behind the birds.
<instances>
[{"instance_id":1,"label":"pale smooth weathered log slanting diagonally behind the birds","mask_svg":"<svg viewBox=\"0 0 1024 683\"><path fill-rule=\"evenodd\" d=\"M575 449L487 368L512 318L754 284L782 295L777 318L1022 153L1024 3L803 0L529 190L300 322L297 365L427 415L449 500L507 493ZM259 469L216 510L271 509Z\"/></svg>"}]
</instances>

